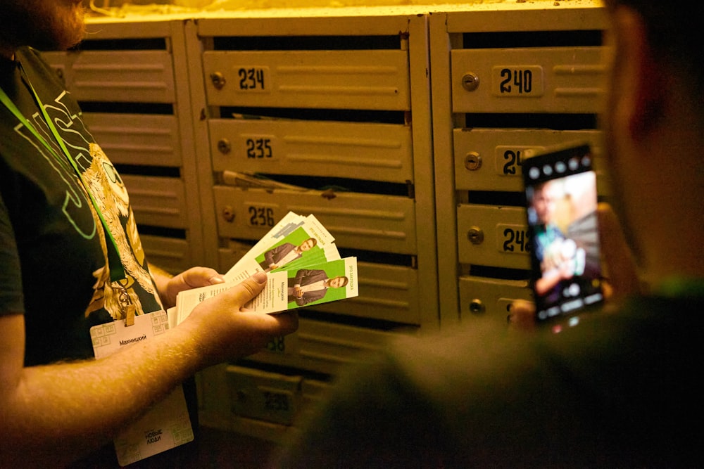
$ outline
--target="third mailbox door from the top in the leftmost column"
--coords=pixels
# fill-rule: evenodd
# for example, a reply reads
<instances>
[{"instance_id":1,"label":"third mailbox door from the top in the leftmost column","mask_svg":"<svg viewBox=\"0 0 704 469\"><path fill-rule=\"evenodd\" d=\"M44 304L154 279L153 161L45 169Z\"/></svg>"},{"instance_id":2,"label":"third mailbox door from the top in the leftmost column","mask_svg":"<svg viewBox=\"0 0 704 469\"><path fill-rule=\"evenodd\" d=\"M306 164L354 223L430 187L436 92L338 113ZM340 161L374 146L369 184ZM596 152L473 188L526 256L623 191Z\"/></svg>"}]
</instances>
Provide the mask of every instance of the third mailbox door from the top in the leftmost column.
<instances>
[{"instance_id":1,"label":"third mailbox door from the top in the leftmost column","mask_svg":"<svg viewBox=\"0 0 704 469\"><path fill-rule=\"evenodd\" d=\"M187 228L184 185L181 179L122 175L137 224Z\"/></svg>"}]
</instances>

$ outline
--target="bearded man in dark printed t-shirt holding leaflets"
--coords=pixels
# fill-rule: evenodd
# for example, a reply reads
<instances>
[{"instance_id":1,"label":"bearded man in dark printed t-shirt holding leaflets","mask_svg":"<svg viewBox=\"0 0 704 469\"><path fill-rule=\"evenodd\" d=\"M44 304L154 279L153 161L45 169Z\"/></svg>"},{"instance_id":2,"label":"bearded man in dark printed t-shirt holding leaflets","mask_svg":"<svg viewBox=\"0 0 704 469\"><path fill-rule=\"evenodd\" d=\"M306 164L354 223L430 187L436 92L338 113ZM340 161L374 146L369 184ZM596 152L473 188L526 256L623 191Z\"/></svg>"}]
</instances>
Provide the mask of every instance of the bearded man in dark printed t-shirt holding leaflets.
<instances>
[{"instance_id":1,"label":"bearded man in dark printed t-shirt holding leaflets","mask_svg":"<svg viewBox=\"0 0 704 469\"><path fill-rule=\"evenodd\" d=\"M82 39L81 0L0 0L0 467L64 467L111 439L201 368L258 352L295 313L240 311L258 274L180 326L92 359L89 328L220 283L149 264L120 175L36 49ZM31 46L31 47L30 47ZM194 429L196 430L196 429ZM99 454L103 454L99 452ZM172 467L172 465L168 465Z\"/></svg>"}]
</instances>

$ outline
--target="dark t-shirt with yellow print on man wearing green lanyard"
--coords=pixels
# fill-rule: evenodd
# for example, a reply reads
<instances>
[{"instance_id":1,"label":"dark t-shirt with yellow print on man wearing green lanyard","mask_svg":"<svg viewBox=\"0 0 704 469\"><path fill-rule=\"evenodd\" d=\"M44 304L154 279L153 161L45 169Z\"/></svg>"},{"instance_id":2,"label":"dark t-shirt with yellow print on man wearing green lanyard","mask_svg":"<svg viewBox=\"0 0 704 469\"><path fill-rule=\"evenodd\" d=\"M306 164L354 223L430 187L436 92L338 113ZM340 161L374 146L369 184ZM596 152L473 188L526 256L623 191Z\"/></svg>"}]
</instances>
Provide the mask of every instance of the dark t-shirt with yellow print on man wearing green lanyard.
<instances>
[{"instance_id":1,"label":"dark t-shirt with yellow print on man wearing green lanyard","mask_svg":"<svg viewBox=\"0 0 704 469\"><path fill-rule=\"evenodd\" d=\"M18 67L26 73L23 77ZM120 250L137 314L161 309L120 175L75 99L33 49L0 59L0 87L56 158L0 105L0 314L25 315L25 364L92 356L89 327L120 318L106 237L86 188L39 111L32 84L83 174Z\"/></svg>"}]
</instances>

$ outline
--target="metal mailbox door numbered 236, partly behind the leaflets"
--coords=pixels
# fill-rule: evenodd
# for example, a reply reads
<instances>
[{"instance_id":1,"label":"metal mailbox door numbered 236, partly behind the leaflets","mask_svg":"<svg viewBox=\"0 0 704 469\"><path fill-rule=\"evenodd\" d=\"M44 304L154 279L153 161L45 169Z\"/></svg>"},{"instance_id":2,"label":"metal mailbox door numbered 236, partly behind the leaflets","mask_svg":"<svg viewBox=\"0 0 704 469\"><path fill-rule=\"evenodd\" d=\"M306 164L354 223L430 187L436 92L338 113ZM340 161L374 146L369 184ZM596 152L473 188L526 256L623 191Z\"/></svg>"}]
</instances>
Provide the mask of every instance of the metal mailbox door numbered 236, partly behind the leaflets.
<instances>
[{"instance_id":1,"label":"metal mailbox door numbered 236, partly behind the leaflets","mask_svg":"<svg viewBox=\"0 0 704 469\"><path fill-rule=\"evenodd\" d=\"M413 255L413 199L393 195L213 188L218 233L258 240L288 212L315 214L343 248Z\"/></svg>"}]
</instances>

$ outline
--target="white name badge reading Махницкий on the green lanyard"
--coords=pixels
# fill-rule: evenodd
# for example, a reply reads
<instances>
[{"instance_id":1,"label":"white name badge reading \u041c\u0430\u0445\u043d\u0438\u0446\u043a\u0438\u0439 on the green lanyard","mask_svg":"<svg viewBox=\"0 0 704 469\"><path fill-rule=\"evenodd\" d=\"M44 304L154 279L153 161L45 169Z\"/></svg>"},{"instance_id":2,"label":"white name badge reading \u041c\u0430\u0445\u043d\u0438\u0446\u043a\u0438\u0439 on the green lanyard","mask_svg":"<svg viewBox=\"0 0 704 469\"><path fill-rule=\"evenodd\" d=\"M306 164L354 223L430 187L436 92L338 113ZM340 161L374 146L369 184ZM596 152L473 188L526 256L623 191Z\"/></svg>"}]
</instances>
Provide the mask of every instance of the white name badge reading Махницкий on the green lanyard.
<instances>
[{"instance_id":1,"label":"white name badge reading \u041c\u0430\u0445\u043d\u0438\u0446\u043a\u0438\u0439 on the green lanyard","mask_svg":"<svg viewBox=\"0 0 704 469\"><path fill-rule=\"evenodd\" d=\"M125 321L94 326L90 333L95 357L101 359L122 346L163 334L167 329L164 311L135 316L132 326L125 326ZM122 430L113 442L118 463L125 466L191 442L193 438L183 387L178 386L137 422Z\"/></svg>"}]
</instances>

